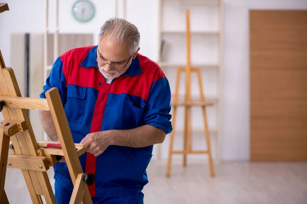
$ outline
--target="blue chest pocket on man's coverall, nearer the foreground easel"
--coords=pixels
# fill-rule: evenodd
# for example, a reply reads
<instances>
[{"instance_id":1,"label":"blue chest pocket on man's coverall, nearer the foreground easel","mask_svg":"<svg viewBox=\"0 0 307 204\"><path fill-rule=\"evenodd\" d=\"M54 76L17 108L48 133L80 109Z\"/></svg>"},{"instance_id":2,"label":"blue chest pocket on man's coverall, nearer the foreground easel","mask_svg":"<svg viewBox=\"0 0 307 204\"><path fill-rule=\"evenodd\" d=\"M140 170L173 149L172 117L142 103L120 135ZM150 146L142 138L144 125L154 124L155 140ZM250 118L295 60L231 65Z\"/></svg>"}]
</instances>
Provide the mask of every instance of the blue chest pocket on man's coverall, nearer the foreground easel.
<instances>
[{"instance_id":1,"label":"blue chest pocket on man's coverall, nearer the foreground easel","mask_svg":"<svg viewBox=\"0 0 307 204\"><path fill-rule=\"evenodd\" d=\"M64 111L68 122L82 123L85 111L86 87L68 85Z\"/></svg>"}]
</instances>

